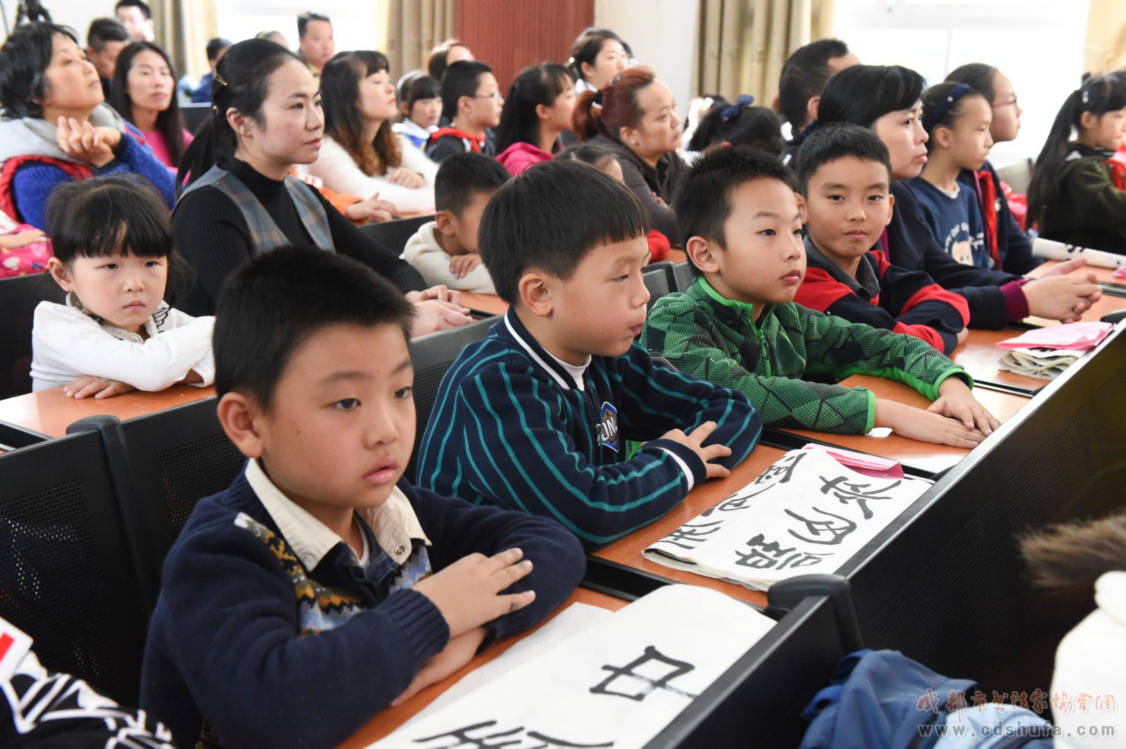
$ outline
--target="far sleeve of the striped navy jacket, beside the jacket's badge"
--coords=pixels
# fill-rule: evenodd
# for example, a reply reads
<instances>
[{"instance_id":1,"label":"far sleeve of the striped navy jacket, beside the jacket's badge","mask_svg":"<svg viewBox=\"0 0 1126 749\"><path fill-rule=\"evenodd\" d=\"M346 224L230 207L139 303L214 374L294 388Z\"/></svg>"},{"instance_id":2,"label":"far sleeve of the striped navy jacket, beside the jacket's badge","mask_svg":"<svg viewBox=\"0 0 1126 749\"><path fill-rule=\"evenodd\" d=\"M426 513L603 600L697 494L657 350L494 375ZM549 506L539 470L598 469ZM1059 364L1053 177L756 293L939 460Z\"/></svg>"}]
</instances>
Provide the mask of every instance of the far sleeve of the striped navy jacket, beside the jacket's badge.
<instances>
[{"instance_id":1,"label":"far sleeve of the striped navy jacket, beside the jacket's badge","mask_svg":"<svg viewBox=\"0 0 1126 749\"><path fill-rule=\"evenodd\" d=\"M762 417L743 393L653 362L640 344L618 363L611 376L619 378L618 425L623 435L653 439L672 429L690 433L714 421L716 429L704 444L731 448L730 456L717 461L727 469L742 463L754 448Z\"/></svg>"}]
</instances>

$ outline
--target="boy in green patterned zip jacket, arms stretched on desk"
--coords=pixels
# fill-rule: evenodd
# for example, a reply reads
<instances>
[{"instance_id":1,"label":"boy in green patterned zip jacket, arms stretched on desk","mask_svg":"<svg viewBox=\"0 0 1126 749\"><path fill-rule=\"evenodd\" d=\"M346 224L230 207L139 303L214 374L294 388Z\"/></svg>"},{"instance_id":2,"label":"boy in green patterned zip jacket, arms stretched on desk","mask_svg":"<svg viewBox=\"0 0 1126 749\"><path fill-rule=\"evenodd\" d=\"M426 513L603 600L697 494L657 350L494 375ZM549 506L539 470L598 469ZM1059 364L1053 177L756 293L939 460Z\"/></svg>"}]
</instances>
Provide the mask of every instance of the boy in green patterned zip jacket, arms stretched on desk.
<instances>
[{"instance_id":1,"label":"boy in green patterned zip jacket, arms stretched on desk","mask_svg":"<svg viewBox=\"0 0 1126 749\"><path fill-rule=\"evenodd\" d=\"M685 374L745 393L768 425L838 434L891 427L976 445L998 422L969 394L962 367L918 338L793 302L805 252L792 179L778 159L738 149L696 162L673 207L699 277L687 293L658 300L642 345ZM905 382L936 401L932 412L805 380L854 374Z\"/></svg>"}]
</instances>

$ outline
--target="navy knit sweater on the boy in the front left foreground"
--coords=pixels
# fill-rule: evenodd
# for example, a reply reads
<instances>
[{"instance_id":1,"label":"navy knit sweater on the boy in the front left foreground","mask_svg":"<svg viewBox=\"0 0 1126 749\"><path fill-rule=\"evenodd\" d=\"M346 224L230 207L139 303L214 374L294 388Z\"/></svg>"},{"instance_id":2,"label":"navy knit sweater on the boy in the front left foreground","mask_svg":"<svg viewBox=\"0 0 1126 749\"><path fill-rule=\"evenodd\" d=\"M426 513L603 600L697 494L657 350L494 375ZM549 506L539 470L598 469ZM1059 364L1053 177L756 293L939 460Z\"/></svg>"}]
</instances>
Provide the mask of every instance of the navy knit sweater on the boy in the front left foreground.
<instances>
[{"instance_id":1,"label":"navy knit sweater on the boy in the front left foreground","mask_svg":"<svg viewBox=\"0 0 1126 749\"><path fill-rule=\"evenodd\" d=\"M474 507L405 481L399 488L432 543L436 572L474 552L517 546L535 563L509 592L533 589L536 600L494 619L482 648L543 619L582 577L579 544L551 520ZM340 542L315 569L301 568L245 474L200 500L164 562L141 677L143 707L182 747L196 746L202 733L224 747L328 747L351 735L449 640L429 598L410 589L387 594L354 561ZM304 597L322 608L365 610L302 636L295 579L309 583L298 592L313 591Z\"/></svg>"}]
</instances>

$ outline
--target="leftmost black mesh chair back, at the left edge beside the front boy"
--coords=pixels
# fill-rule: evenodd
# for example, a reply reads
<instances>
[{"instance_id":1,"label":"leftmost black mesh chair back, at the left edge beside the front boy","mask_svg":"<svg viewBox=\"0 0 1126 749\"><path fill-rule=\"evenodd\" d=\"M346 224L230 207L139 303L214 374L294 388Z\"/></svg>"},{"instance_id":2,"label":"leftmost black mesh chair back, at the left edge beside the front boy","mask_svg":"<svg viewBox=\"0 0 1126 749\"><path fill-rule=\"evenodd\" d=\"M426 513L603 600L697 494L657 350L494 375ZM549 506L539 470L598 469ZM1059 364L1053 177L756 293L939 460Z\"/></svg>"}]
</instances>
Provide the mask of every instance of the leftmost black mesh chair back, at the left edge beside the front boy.
<instances>
[{"instance_id":1,"label":"leftmost black mesh chair back, at the left edge beside the front boy","mask_svg":"<svg viewBox=\"0 0 1126 749\"><path fill-rule=\"evenodd\" d=\"M144 626L134 563L96 433L0 455L0 616L44 667L135 705Z\"/></svg>"}]
</instances>

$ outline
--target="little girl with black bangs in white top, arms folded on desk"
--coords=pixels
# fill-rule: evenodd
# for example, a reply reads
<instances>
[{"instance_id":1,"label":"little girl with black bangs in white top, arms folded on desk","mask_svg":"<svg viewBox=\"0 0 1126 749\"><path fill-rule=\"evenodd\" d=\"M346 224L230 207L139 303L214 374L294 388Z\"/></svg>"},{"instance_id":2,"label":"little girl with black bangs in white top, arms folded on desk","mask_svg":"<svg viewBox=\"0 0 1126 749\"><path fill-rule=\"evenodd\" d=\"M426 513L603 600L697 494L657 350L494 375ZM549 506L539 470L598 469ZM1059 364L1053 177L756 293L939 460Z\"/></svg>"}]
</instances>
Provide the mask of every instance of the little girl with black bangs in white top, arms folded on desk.
<instances>
[{"instance_id":1,"label":"little girl with black bangs in white top, arms folded on desk","mask_svg":"<svg viewBox=\"0 0 1126 749\"><path fill-rule=\"evenodd\" d=\"M109 398L215 378L215 319L164 301L177 265L160 195L126 177L61 185L47 207L54 257L47 271L66 292L41 302L32 329L32 389Z\"/></svg>"}]
</instances>

